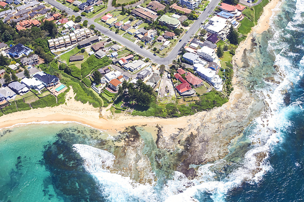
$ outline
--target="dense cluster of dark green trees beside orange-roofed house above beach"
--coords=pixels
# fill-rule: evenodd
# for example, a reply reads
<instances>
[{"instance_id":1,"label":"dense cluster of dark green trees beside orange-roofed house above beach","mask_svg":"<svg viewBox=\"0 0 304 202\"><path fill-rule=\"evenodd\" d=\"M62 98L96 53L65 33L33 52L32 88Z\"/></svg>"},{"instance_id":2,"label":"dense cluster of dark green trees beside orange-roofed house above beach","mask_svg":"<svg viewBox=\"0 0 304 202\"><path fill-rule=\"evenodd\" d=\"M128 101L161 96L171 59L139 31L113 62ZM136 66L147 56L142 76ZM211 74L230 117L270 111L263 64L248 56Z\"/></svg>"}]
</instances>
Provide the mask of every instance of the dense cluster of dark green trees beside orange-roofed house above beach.
<instances>
[{"instance_id":1,"label":"dense cluster of dark green trees beside orange-roofed house above beach","mask_svg":"<svg viewBox=\"0 0 304 202\"><path fill-rule=\"evenodd\" d=\"M118 88L117 95L122 96L123 101L135 102L143 107L148 107L153 100L152 96L155 97L155 91L151 86L138 79L136 84L123 81Z\"/></svg>"}]
</instances>

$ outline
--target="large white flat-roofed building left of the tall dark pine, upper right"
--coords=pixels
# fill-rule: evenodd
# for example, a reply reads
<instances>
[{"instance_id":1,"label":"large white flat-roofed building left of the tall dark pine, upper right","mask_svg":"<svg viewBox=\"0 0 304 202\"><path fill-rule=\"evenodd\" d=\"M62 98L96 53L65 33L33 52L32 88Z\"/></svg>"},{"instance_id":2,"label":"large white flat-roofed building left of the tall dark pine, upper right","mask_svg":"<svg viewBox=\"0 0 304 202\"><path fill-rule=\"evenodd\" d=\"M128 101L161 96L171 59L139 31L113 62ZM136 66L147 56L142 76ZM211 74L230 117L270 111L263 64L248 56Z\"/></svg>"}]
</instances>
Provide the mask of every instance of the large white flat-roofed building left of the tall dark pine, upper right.
<instances>
[{"instance_id":1,"label":"large white flat-roofed building left of the tall dark pine, upper right","mask_svg":"<svg viewBox=\"0 0 304 202\"><path fill-rule=\"evenodd\" d=\"M208 24L205 25L206 31L218 35L223 41L227 39L229 33L230 24L225 18L219 16L212 17Z\"/></svg>"}]
</instances>

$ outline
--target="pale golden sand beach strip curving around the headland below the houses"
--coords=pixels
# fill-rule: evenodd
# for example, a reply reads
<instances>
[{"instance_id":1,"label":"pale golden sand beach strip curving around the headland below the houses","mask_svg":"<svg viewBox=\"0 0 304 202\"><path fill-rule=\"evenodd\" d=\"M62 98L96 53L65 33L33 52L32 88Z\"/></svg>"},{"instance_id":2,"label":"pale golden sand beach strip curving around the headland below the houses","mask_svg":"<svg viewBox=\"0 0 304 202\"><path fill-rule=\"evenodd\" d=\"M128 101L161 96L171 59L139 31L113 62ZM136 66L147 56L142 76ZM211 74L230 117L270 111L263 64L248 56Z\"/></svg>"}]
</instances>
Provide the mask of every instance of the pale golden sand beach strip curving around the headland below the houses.
<instances>
[{"instance_id":1,"label":"pale golden sand beach strip curving around the headland below the houses","mask_svg":"<svg viewBox=\"0 0 304 202\"><path fill-rule=\"evenodd\" d=\"M198 127L204 124L204 121L213 122L212 119L216 118L219 113L227 114L237 113L240 100L248 101L248 105L244 106L250 108L252 98L248 98L244 85L239 83L239 79L236 76L237 68L235 65L241 64L241 55L245 48L250 46L250 38L252 33L263 32L269 28L269 18L272 15L271 9L275 8L279 0L272 0L264 7L264 12L258 20L258 24L252 28L245 41L243 41L237 48L236 55L233 56L234 63L234 75L233 75L233 92L230 94L230 99L227 103L223 104L219 108L213 108L210 111L198 112L194 115L189 115L179 118L157 118L157 117L142 117L142 116L130 116L125 114L112 115L110 111L106 111L106 108L102 110L102 118L99 118L99 109L93 108L88 103L82 104L80 101L74 101L74 94L72 89L67 93L67 105L62 104L56 107L46 107L31 109L29 111L14 112L12 114L3 115L0 117L0 128L12 127L15 124L28 124L31 122L41 121L75 121L81 124L89 125L99 130L105 130L110 134L117 134L118 131L123 131L126 127L132 125L146 125L154 127L157 124L163 127L163 136L169 136L174 132L178 132L178 128L187 128L189 134L191 132L197 133ZM267 20L268 19L268 20ZM247 98L246 98L247 96ZM237 105L237 106L236 106ZM245 104L246 105L246 104ZM247 112L247 111L246 111ZM243 114L245 115L245 114ZM239 117L240 114L234 115L234 119ZM112 117L112 119L110 118ZM221 117L224 118L224 117ZM194 122L194 120L200 120ZM203 121L204 120L204 121ZM219 121L220 122L220 121ZM178 127L178 128L177 128ZM221 126L218 125L217 128ZM212 135L209 135L212 136Z\"/></svg>"}]
</instances>

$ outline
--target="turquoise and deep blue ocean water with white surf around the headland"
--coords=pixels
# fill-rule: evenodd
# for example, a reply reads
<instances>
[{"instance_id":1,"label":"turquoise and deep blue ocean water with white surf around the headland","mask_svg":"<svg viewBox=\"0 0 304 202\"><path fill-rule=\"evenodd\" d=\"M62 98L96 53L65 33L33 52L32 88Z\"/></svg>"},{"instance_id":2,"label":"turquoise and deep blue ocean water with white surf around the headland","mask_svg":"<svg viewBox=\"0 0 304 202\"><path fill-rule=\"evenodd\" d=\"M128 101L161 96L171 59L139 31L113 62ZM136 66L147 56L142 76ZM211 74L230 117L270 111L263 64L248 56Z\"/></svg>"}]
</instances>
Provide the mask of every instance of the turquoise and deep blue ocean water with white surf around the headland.
<instances>
[{"instance_id":1,"label":"turquoise and deep blue ocean water with white surf around the headland","mask_svg":"<svg viewBox=\"0 0 304 202\"><path fill-rule=\"evenodd\" d=\"M244 85L268 110L225 158L192 165L198 176L189 180L174 170L182 151L158 149L140 126L115 137L67 122L4 128L0 201L304 200L304 0L283 0L273 13L271 28L254 33L238 67ZM128 147L119 149L126 137ZM134 141L138 137L142 141Z\"/></svg>"}]
</instances>

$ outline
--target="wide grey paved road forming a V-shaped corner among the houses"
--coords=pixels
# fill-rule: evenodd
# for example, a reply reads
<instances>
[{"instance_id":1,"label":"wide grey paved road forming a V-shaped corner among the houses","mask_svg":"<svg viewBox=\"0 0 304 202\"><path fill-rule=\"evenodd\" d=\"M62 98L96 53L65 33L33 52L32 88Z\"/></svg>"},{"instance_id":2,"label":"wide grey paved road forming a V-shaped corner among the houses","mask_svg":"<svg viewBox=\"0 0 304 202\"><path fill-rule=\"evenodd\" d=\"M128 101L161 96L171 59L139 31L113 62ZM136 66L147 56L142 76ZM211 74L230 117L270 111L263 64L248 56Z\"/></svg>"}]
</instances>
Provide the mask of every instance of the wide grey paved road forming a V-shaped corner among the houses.
<instances>
[{"instance_id":1,"label":"wide grey paved road forming a V-shaped corner among the houses","mask_svg":"<svg viewBox=\"0 0 304 202\"><path fill-rule=\"evenodd\" d=\"M75 15L79 16L79 13L74 12L73 10L69 10L66 6L60 4L59 2L55 0L46 0L46 2L54 7L56 7L59 10L65 10L68 15ZM205 20L208 18L210 13L214 10L214 8L219 4L219 0L212 0L210 2L210 5L206 8L204 12L202 12L201 15L199 15L198 20L196 20L191 27L188 30L187 34L184 34L181 38L181 42L178 42L177 45L171 50L169 55L165 58L160 58L158 56L154 56L153 53L150 51L147 51L146 49L141 49L140 46L134 44L133 42L129 41L126 38L123 38L120 35L115 34L113 31L110 31L109 29L103 27L102 25L99 25L97 22L94 22L94 19L89 19L84 16L82 17L82 21L87 20L88 25L95 25L95 29L99 30L102 34L109 36L112 38L112 40L117 41L118 43L130 48L131 50L134 50L136 53L139 53L140 55L144 56L145 58L151 58L152 61L156 62L157 64L164 64L169 65L172 60L174 60L177 57L178 51L181 49L182 45L184 43L187 43L190 38L192 38L192 35L195 34L195 32L199 29L200 23L205 22Z\"/></svg>"}]
</instances>

